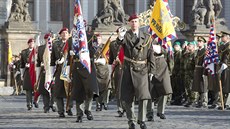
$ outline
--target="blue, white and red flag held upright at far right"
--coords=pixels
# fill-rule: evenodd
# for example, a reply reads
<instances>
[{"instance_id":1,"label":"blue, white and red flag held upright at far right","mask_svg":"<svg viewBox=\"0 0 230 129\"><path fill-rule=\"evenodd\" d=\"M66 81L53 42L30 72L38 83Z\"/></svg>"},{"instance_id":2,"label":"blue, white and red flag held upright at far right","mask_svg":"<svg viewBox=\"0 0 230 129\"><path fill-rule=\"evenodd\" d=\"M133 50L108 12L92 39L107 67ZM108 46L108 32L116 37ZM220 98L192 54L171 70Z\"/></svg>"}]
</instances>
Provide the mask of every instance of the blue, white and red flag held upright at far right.
<instances>
[{"instance_id":1,"label":"blue, white and red flag held upright at far right","mask_svg":"<svg viewBox=\"0 0 230 129\"><path fill-rule=\"evenodd\" d=\"M206 55L204 57L204 66L205 69L211 73L211 75L214 75L215 72L215 64L219 63L219 55L217 51L217 45L216 45L216 34L215 34L215 22L213 20L211 28L210 28L210 34L209 34L209 41L207 45Z\"/></svg>"}]
</instances>

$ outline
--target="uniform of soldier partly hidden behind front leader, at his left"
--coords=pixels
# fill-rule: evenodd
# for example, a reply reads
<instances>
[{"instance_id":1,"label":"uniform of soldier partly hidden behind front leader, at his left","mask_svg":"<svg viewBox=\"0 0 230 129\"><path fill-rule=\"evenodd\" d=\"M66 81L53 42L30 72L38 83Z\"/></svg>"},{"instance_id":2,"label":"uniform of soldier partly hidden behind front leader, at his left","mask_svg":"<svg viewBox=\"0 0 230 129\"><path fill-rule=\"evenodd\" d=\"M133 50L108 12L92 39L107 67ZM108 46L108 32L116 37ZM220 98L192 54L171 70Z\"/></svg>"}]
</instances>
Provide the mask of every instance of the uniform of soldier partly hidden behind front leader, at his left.
<instances>
[{"instance_id":1,"label":"uniform of soldier partly hidden behind front leader, at his left","mask_svg":"<svg viewBox=\"0 0 230 129\"><path fill-rule=\"evenodd\" d=\"M109 64L114 65L114 76L111 79L113 80L115 86L114 89L115 89L117 108L118 108L117 112L121 117L124 112L124 105L122 104L122 101L120 99L122 65L121 62L117 60L120 48L121 47L116 43L116 41L111 42L109 46Z\"/></svg>"}]
</instances>

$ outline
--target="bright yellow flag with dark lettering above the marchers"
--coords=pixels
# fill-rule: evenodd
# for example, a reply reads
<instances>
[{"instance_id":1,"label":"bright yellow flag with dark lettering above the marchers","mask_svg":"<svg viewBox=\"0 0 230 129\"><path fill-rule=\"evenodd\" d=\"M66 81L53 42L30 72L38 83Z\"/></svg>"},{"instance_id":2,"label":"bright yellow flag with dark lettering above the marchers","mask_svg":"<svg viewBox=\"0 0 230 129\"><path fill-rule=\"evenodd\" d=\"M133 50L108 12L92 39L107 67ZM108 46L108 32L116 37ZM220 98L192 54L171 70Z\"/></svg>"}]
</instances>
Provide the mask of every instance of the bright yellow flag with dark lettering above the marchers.
<instances>
[{"instance_id":1,"label":"bright yellow flag with dark lettering above the marchers","mask_svg":"<svg viewBox=\"0 0 230 129\"><path fill-rule=\"evenodd\" d=\"M150 28L163 40L167 36L175 34L172 18L163 0L157 0L150 18ZM170 37L169 37L170 38Z\"/></svg>"}]
</instances>

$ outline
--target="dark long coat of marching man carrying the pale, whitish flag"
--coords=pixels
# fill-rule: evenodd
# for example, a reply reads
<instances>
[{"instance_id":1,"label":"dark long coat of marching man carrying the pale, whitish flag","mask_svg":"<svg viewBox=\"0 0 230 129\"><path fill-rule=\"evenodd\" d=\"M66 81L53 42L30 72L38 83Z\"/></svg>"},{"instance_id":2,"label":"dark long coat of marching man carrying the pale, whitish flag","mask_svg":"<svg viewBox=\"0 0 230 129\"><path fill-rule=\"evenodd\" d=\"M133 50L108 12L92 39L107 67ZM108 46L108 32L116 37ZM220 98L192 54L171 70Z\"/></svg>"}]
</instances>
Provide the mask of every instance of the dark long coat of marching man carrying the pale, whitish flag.
<instances>
[{"instance_id":1,"label":"dark long coat of marching man carrying the pale, whitish flag","mask_svg":"<svg viewBox=\"0 0 230 129\"><path fill-rule=\"evenodd\" d=\"M49 95L48 91L45 89L44 84L45 84L45 70L44 70L44 66L41 66L41 64L43 63L43 54L46 48L46 44L41 45L38 47L38 55L37 55L37 64L36 67L41 67L40 71L36 71L39 72L39 76L40 76L40 81L38 84L38 92L42 95ZM38 77L39 79L39 77Z\"/></svg>"}]
</instances>

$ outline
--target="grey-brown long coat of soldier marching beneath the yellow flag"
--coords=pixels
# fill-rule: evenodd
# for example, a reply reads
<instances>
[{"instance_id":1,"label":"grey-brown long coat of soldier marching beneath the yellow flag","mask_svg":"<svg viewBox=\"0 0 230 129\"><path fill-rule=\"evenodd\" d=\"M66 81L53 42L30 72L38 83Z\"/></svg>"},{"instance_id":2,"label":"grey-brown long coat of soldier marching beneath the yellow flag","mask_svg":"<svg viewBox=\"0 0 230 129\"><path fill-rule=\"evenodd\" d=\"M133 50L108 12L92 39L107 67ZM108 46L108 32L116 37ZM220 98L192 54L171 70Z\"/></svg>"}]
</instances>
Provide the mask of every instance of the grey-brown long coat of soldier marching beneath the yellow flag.
<instances>
[{"instance_id":1,"label":"grey-brown long coat of soldier marching beneath the yellow flag","mask_svg":"<svg viewBox=\"0 0 230 129\"><path fill-rule=\"evenodd\" d=\"M153 74L150 83L152 99L172 94L170 75L165 58L160 55L154 56L152 54L151 59L151 62L153 62L153 65L150 65L150 73Z\"/></svg>"}]
</instances>

